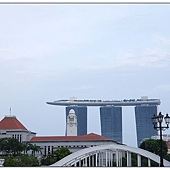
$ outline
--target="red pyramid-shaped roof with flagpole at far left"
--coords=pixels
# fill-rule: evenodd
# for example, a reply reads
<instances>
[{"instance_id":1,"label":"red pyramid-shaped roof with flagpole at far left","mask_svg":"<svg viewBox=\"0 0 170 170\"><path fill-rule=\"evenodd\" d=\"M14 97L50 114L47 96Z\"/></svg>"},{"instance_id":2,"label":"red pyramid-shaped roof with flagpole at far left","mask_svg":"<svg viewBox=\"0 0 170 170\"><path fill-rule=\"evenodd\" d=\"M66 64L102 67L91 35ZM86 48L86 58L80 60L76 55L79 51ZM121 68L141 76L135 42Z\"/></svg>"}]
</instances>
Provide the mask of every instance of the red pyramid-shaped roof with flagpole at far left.
<instances>
[{"instance_id":1,"label":"red pyramid-shaped roof with flagpole at far left","mask_svg":"<svg viewBox=\"0 0 170 170\"><path fill-rule=\"evenodd\" d=\"M0 121L0 130L9 129L27 130L27 128L15 116L5 116Z\"/></svg>"}]
</instances>

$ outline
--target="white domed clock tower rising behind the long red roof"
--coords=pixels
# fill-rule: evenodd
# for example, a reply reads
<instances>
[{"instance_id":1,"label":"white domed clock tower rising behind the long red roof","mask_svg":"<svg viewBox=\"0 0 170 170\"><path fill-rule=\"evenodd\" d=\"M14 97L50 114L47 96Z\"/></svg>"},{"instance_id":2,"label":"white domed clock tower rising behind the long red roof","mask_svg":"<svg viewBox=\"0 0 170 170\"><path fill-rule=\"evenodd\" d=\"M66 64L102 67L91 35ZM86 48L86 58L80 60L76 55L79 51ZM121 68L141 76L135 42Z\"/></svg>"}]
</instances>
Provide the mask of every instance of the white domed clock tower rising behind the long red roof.
<instances>
[{"instance_id":1,"label":"white domed clock tower rising behind the long red roof","mask_svg":"<svg viewBox=\"0 0 170 170\"><path fill-rule=\"evenodd\" d=\"M66 136L77 136L77 116L75 111L71 109L67 116Z\"/></svg>"}]
</instances>

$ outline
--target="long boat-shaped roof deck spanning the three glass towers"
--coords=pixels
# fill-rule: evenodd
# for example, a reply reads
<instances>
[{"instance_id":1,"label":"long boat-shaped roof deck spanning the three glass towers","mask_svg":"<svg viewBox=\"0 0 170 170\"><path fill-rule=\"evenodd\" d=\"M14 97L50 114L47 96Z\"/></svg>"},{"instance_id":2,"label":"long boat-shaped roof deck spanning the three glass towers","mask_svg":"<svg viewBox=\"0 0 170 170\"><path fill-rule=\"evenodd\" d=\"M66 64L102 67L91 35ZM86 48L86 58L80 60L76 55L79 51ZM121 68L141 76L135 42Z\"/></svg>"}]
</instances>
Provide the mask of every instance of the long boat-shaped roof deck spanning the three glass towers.
<instances>
[{"instance_id":1,"label":"long boat-shaped roof deck spanning the three glass towers","mask_svg":"<svg viewBox=\"0 0 170 170\"><path fill-rule=\"evenodd\" d=\"M129 99L129 100L57 100L46 102L50 105L58 106L137 106L137 105L160 105L160 99Z\"/></svg>"}]
</instances>

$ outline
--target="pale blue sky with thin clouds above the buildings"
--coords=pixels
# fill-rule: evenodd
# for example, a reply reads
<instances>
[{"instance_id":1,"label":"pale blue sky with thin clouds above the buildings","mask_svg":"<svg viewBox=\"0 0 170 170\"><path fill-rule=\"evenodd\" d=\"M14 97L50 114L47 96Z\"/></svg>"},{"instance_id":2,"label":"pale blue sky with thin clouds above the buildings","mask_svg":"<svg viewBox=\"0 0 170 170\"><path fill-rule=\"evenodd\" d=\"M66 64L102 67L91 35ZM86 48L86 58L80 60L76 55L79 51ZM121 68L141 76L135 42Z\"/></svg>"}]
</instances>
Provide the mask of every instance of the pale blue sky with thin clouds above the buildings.
<instances>
[{"instance_id":1,"label":"pale blue sky with thin clouds above the buildings","mask_svg":"<svg viewBox=\"0 0 170 170\"><path fill-rule=\"evenodd\" d=\"M169 18L170 4L0 4L0 119L64 136L65 107L46 102L70 97L148 96L169 113ZM136 147L134 107L122 122ZM88 107L87 131L101 134L99 107Z\"/></svg>"}]
</instances>

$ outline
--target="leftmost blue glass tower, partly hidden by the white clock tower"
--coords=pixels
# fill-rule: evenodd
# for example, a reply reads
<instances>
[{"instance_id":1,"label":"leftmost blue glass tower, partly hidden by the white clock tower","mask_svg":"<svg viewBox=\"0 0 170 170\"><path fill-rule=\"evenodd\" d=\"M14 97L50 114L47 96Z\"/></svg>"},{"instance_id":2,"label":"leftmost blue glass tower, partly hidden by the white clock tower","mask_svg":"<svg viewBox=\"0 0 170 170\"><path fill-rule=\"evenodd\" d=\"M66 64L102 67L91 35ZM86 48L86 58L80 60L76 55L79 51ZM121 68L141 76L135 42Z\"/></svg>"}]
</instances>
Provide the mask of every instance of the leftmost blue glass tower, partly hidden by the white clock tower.
<instances>
[{"instance_id":1,"label":"leftmost blue glass tower, partly hidden by the white clock tower","mask_svg":"<svg viewBox=\"0 0 170 170\"><path fill-rule=\"evenodd\" d=\"M77 136L87 134L87 107L86 106L68 106L66 107L66 122L70 110L73 109L77 116Z\"/></svg>"}]
</instances>

